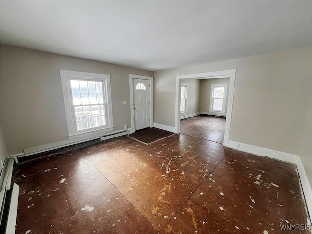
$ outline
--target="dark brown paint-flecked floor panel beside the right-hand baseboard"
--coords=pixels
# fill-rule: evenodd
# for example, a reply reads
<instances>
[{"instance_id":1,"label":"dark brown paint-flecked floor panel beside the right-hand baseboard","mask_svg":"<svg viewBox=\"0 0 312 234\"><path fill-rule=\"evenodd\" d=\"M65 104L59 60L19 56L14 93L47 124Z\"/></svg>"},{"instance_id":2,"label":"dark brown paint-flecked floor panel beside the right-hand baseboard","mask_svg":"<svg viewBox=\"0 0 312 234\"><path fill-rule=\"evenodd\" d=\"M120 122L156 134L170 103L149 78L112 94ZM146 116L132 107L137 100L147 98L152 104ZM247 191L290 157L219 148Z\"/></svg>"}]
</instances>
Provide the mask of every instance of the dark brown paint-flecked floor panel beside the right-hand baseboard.
<instances>
[{"instance_id":1,"label":"dark brown paint-flecked floor panel beside the right-hand baseboard","mask_svg":"<svg viewBox=\"0 0 312 234\"><path fill-rule=\"evenodd\" d=\"M295 166L246 156L226 156L191 200L246 234L283 233L281 224L308 224Z\"/></svg>"}]
</instances>

